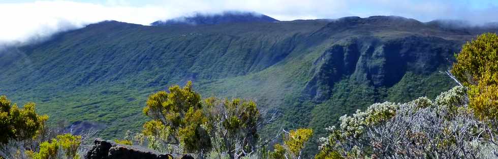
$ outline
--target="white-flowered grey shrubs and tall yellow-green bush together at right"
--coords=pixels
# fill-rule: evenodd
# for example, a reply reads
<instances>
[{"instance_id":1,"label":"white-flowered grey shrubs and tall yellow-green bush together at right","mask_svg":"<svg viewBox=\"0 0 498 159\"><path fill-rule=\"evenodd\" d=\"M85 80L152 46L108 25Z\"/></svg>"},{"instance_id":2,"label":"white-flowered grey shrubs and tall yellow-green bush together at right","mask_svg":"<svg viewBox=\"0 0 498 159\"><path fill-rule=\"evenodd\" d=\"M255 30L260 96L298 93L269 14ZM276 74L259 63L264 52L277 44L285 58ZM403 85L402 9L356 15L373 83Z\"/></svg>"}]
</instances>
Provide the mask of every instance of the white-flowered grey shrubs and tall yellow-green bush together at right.
<instances>
[{"instance_id":1,"label":"white-flowered grey shrubs and tall yellow-green bush together at right","mask_svg":"<svg viewBox=\"0 0 498 159\"><path fill-rule=\"evenodd\" d=\"M377 103L326 130L316 158L496 158L498 36L463 45L447 73L460 86L434 101Z\"/></svg>"}]
</instances>

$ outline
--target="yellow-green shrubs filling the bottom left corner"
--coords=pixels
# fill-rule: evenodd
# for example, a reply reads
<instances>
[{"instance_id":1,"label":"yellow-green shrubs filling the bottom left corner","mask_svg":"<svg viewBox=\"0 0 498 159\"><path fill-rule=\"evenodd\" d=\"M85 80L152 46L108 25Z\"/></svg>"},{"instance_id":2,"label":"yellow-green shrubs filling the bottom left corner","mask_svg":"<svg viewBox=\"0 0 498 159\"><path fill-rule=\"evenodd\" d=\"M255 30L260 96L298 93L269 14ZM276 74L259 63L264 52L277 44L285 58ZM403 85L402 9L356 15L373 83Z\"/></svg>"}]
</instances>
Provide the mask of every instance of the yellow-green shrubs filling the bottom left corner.
<instances>
[{"instance_id":1,"label":"yellow-green shrubs filling the bottom left corner","mask_svg":"<svg viewBox=\"0 0 498 159\"><path fill-rule=\"evenodd\" d=\"M48 115L39 115L35 103L22 108L0 96L0 158L81 158L91 134L64 134L63 128L47 127Z\"/></svg>"}]
</instances>

